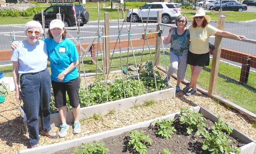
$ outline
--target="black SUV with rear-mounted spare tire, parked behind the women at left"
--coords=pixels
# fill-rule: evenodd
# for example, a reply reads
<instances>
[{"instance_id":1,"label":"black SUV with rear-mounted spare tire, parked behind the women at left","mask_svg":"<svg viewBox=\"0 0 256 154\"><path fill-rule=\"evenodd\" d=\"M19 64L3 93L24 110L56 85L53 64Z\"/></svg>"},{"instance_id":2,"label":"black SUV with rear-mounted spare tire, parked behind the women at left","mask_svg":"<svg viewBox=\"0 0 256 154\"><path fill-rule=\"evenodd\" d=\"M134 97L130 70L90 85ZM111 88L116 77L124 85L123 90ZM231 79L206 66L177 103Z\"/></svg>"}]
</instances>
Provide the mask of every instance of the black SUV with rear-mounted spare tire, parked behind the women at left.
<instances>
[{"instance_id":1,"label":"black SUV with rear-mounted spare tire, parked behind the women at left","mask_svg":"<svg viewBox=\"0 0 256 154\"><path fill-rule=\"evenodd\" d=\"M70 27L75 25L75 20L79 21L79 11L80 11L80 26L83 26L87 22L89 22L89 13L86 11L83 5L75 5L75 14L77 19L74 16L73 5L65 4L65 5L52 5L44 10L44 21L45 26L49 26L50 21L56 19L56 14L60 12L61 18L64 18L65 27ZM41 13L35 14L33 20L42 22Z\"/></svg>"}]
</instances>

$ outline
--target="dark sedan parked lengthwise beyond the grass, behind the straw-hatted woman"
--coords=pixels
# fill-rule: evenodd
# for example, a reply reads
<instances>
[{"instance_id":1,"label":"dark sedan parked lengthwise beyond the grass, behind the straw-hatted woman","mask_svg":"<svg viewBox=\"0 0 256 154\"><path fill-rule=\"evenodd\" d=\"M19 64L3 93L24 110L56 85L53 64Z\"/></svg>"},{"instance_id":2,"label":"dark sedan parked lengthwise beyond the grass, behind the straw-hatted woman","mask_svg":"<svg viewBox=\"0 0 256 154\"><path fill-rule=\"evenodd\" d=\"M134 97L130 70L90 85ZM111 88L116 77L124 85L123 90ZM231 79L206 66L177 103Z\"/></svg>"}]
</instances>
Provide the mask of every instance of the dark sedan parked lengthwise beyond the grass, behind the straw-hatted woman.
<instances>
[{"instance_id":1,"label":"dark sedan parked lengthwise beyond the grass, behind the straw-hatted woman","mask_svg":"<svg viewBox=\"0 0 256 154\"><path fill-rule=\"evenodd\" d=\"M221 7L221 8L220 8ZM238 11L242 12L247 10L247 5L238 2L226 2L222 5L217 4L213 7L215 11Z\"/></svg>"}]
</instances>

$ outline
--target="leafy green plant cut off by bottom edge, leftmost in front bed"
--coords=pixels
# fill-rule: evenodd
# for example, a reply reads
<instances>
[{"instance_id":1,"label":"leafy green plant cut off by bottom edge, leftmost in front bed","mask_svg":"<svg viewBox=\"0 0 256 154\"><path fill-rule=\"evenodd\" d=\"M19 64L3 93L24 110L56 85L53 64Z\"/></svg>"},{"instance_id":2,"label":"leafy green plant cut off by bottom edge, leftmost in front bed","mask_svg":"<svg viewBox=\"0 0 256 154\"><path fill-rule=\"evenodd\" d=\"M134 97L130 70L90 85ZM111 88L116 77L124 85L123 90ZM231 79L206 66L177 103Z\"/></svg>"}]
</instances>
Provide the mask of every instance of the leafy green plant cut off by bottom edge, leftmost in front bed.
<instances>
[{"instance_id":1,"label":"leafy green plant cut off by bottom edge, leftmost in front bed","mask_svg":"<svg viewBox=\"0 0 256 154\"><path fill-rule=\"evenodd\" d=\"M96 143L85 143L81 144L81 149L75 148L74 154L105 154L109 151L108 148L105 148L105 143L96 142Z\"/></svg>"}]
</instances>

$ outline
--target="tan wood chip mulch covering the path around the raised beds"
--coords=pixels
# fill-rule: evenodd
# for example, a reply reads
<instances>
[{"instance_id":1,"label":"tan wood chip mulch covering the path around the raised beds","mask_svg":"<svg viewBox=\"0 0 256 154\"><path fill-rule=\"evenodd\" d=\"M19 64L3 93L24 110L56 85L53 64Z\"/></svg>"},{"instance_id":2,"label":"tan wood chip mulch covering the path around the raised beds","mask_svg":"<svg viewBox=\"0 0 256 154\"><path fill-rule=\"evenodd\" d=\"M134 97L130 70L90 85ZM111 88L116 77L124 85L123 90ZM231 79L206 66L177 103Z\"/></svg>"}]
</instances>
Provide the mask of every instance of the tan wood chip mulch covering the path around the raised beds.
<instances>
[{"instance_id":1,"label":"tan wood chip mulch covering the path around the raised beds","mask_svg":"<svg viewBox=\"0 0 256 154\"><path fill-rule=\"evenodd\" d=\"M121 74L110 75L109 78L118 78ZM164 78L164 77L162 77ZM94 81L88 78L87 83ZM84 81L83 81L84 82ZM176 79L171 78L170 83L176 85ZM181 84L181 89L185 87ZM0 153L13 154L16 150L29 148L28 133L25 133L23 119L18 111L19 103L15 101L15 92L6 97L6 101L0 104ZM149 119L161 117L167 114L180 111L180 108L201 105L214 114L220 114L222 119L256 140L256 128L252 127L253 120L238 113L235 110L227 109L225 105L214 101L212 98L197 92L187 97L182 92L176 93L176 97L168 100L158 101L151 107L129 108L123 111L115 111L114 114L101 116L99 119L87 118L80 120L82 132L74 135L72 127L68 130L65 138L49 139L40 136L39 145L48 145L65 140L92 135L110 129L124 127L130 124L143 122ZM72 126L72 124L69 124ZM52 128L58 132L59 128Z\"/></svg>"}]
</instances>

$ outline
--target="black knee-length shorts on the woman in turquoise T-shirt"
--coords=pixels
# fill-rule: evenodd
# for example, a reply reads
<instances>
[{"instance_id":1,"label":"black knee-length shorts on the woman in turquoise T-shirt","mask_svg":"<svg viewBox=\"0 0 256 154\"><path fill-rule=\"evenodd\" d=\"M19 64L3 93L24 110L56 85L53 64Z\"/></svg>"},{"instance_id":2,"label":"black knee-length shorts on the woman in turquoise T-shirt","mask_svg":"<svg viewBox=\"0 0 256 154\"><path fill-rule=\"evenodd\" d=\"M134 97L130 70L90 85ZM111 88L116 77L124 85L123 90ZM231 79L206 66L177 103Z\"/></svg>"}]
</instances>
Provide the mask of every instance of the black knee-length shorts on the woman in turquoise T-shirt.
<instances>
[{"instance_id":1,"label":"black knee-length shorts on the woman in turquoise T-shirt","mask_svg":"<svg viewBox=\"0 0 256 154\"><path fill-rule=\"evenodd\" d=\"M55 106L57 108L64 107L67 105L66 91L68 93L70 105L73 108L77 108L79 105L79 78L73 79L68 82L55 82L51 81L53 86L53 94L55 100Z\"/></svg>"}]
</instances>

